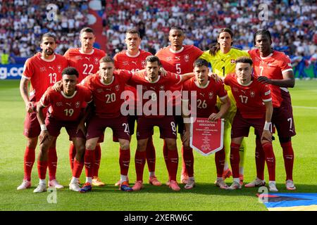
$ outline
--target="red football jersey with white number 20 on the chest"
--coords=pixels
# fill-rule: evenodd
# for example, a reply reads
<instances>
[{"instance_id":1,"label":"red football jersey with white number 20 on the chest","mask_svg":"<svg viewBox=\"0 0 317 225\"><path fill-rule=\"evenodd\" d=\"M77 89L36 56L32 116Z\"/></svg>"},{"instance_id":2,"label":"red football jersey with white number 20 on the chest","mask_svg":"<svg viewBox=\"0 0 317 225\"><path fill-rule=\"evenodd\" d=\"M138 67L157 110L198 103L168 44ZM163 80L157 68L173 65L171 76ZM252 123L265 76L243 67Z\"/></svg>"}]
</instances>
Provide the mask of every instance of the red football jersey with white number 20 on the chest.
<instances>
[{"instance_id":1,"label":"red football jersey with white number 20 on the chest","mask_svg":"<svg viewBox=\"0 0 317 225\"><path fill-rule=\"evenodd\" d=\"M132 72L128 70L115 70L111 84L104 84L98 74L90 75L82 81L92 91L96 115L101 118L120 116L121 104L124 102L121 93L125 91L125 84L131 77Z\"/></svg>"}]
</instances>

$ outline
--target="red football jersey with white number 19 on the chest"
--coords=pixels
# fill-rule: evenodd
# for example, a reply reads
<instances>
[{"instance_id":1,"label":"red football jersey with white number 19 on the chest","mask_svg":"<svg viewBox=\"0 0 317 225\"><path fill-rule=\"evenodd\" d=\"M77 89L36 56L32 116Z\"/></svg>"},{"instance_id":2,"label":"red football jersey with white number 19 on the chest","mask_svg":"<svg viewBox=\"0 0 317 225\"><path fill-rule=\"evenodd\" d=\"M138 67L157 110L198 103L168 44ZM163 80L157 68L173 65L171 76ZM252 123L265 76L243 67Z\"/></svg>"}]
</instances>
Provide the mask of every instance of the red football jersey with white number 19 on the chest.
<instances>
[{"instance_id":1,"label":"red football jersey with white number 19 on the chest","mask_svg":"<svg viewBox=\"0 0 317 225\"><path fill-rule=\"evenodd\" d=\"M41 105L47 107L48 117L61 121L77 121L80 119L82 105L92 101L92 93L85 86L76 85L73 96L66 96L63 91L54 91L49 87L41 98Z\"/></svg>"}]
</instances>

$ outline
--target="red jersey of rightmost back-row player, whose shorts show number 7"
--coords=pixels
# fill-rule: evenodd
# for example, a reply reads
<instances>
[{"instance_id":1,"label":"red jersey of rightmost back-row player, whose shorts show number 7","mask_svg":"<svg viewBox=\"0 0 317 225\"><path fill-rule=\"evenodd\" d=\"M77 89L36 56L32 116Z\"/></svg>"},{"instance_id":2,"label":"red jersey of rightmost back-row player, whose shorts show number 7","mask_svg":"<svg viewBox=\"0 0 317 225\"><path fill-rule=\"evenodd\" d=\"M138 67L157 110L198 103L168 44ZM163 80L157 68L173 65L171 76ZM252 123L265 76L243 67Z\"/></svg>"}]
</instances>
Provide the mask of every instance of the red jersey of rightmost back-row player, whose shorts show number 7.
<instances>
[{"instance_id":1,"label":"red jersey of rightmost back-row player, whose shorts show number 7","mask_svg":"<svg viewBox=\"0 0 317 225\"><path fill-rule=\"evenodd\" d=\"M254 63L254 73L257 76L266 76L269 79L283 79L282 73L292 70L290 58L280 51L273 51L270 56L262 58L259 49L249 51ZM270 84L273 107L280 107L282 91L289 92L287 88Z\"/></svg>"}]
</instances>

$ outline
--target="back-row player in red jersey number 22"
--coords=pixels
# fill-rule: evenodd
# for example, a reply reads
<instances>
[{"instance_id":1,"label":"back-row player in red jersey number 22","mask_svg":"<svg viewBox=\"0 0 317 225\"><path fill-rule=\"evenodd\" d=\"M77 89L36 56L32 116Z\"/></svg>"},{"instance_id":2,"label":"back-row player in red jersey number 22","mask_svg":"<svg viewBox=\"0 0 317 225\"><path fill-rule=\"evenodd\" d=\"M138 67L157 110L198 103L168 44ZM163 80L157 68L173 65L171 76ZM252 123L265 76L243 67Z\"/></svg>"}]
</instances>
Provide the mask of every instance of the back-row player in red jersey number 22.
<instances>
[{"instance_id":1,"label":"back-row player in red jersey number 22","mask_svg":"<svg viewBox=\"0 0 317 225\"><path fill-rule=\"evenodd\" d=\"M88 75L93 75L99 70L99 60L106 56L104 51L94 48L94 41L96 37L94 36L94 30L90 27L85 27L80 30L80 44L81 47L77 49L68 49L64 54L65 58L68 60L69 66L76 68L79 72L78 82L85 79ZM101 160L101 148L99 143L95 150L96 161L94 164L94 179L92 184L94 186L104 186L104 183L98 177L100 160ZM76 155L76 149L72 143L70 143L69 158L70 158L70 168L73 170L73 161Z\"/></svg>"}]
</instances>

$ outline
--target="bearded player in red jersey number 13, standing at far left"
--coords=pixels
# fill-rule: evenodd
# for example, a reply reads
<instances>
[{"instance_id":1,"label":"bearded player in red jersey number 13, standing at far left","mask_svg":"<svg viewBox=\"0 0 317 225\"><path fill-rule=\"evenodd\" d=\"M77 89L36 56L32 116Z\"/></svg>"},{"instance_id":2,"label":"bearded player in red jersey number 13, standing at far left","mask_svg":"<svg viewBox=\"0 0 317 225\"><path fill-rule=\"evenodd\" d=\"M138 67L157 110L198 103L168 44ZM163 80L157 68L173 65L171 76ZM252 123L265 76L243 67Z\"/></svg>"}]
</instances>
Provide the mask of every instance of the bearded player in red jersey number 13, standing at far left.
<instances>
[{"instance_id":1,"label":"bearded player in red jersey number 13, standing at far left","mask_svg":"<svg viewBox=\"0 0 317 225\"><path fill-rule=\"evenodd\" d=\"M54 53L57 47L54 34L44 34L40 46L42 52L37 53L25 62L20 80L20 94L27 111L23 133L27 138L27 146L24 155L24 179L23 183L18 186L18 190L31 186L31 172L35 162L37 137L41 132L37 120L36 103L49 86L61 79L61 72L68 65L66 58ZM27 91L29 82L31 83L30 96ZM56 165L56 144L53 143L49 148L49 186L63 188L56 181Z\"/></svg>"}]
</instances>

